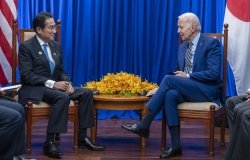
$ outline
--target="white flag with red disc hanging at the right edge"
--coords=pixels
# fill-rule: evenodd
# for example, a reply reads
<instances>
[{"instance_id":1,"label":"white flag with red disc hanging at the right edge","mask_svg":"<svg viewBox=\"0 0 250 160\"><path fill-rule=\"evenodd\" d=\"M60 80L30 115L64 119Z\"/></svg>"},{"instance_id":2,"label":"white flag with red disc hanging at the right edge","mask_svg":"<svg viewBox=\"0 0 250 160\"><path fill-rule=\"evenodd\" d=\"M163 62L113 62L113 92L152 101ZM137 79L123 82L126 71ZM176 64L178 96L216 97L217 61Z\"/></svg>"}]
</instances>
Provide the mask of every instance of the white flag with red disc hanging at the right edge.
<instances>
[{"instance_id":1,"label":"white flag with red disc hanging at the right edge","mask_svg":"<svg viewBox=\"0 0 250 160\"><path fill-rule=\"evenodd\" d=\"M238 95L250 89L250 0L227 0L228 62Z\"/></svg>"}]
</instances>

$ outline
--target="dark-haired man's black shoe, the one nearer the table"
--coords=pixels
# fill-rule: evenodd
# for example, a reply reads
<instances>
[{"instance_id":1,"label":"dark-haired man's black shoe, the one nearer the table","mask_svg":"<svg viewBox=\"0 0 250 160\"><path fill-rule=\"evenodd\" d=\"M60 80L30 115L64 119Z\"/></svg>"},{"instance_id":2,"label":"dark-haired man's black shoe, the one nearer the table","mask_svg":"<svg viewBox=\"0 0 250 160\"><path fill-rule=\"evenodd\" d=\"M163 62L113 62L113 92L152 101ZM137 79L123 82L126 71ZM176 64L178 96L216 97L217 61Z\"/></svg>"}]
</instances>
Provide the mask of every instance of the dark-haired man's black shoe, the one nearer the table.
<instances>
[{"instance_id":1,"label":"dark-haired man's black shoe, the one nearer the table","mask_svg":"<svg viewBox=\"0 0 250 160\"><path fill-rule=\"evenodd\" d=\"M85 137L83 140L78 141L78 147L81 149L87 148L92 151L104 151L105 150L105 147L94 144L87 137Z\"/></svg>"}]
</instances>

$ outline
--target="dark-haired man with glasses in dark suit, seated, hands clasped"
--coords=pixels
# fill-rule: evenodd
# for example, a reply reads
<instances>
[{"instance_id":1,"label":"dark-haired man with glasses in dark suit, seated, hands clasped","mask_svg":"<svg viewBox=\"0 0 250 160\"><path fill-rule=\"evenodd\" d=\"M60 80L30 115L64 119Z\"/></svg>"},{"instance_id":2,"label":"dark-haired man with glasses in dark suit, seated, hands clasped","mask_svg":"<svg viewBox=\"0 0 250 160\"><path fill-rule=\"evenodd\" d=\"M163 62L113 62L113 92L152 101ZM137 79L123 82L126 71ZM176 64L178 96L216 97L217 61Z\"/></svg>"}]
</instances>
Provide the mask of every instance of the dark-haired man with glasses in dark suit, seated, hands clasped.
<instances>
[{"instance_id":1,"label":"dark-haired man with glasses in dark suit, seated, hands clasped","mask_svg":"<svg viewBox=\"0 0 250 160\"><path fill-rule=\"evenodd\" d=\"M54 144L56 133L67 131L70 99L77 99L79 107L80 148L100 151L104 147L87 138L87 128L93 126L93 94L88 89L73 87L63 70L62 49L54 41L55 21L50 13L41 12L33 20L36 35L19 47L19 66L22 87L19 102L44 101L52 105L44 142L44 154L60 158L62 153Z\"/></svg>"}]
</instances>

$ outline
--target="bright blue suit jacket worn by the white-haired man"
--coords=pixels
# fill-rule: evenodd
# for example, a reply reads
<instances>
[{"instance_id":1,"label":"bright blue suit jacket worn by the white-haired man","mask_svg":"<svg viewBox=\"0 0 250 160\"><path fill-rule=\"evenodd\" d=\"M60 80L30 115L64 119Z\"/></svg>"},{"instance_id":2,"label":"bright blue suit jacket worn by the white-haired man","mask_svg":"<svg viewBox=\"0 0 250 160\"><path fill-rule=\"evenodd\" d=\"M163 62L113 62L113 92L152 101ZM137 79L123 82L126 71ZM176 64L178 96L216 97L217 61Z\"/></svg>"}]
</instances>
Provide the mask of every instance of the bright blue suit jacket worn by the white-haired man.
<instances>
[{"instance_id":1,"label":"bright blue suit jacket worn by the white-haired man","mask_svg":"<svg viewBox=\"0 0 250 160\"><path fill-rule=\"evenodd\" d=\"M179 47L177 70L184 71L188 42ZM193 59L190 78L211 101L219 103L222 89L220 78L222 51L219 40L201 34Z\"/></svg>"}]
</instances>

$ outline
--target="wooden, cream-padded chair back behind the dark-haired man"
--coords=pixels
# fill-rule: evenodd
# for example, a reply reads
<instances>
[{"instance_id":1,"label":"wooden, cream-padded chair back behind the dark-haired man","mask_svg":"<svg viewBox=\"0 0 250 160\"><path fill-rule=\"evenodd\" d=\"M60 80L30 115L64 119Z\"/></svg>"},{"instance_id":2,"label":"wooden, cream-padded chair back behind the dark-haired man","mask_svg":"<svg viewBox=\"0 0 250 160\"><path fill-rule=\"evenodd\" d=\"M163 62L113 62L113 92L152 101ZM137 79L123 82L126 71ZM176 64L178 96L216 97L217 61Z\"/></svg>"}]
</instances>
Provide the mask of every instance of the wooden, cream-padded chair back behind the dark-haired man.
<instances>
[{"instance_id":1,"label":"wooden, cream-padded chair back behind the dark-haired man","mask_svg":"<svg viewBox=\"0 0 250 160\"><path fill-rule=\"evenodd\" d=\"M61 22L56 22L56 41L60 42L61 36ZM18 44L32 38L36 32L33 29L21 29L17 27L17 21L14 20L12 24L12 84L17 84L16 70L17 70L17 58L18 58ZM18 43L19 42L19 43Z\"/></svg>"}]
</instances>

